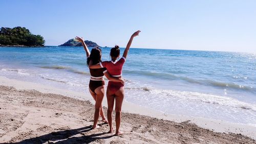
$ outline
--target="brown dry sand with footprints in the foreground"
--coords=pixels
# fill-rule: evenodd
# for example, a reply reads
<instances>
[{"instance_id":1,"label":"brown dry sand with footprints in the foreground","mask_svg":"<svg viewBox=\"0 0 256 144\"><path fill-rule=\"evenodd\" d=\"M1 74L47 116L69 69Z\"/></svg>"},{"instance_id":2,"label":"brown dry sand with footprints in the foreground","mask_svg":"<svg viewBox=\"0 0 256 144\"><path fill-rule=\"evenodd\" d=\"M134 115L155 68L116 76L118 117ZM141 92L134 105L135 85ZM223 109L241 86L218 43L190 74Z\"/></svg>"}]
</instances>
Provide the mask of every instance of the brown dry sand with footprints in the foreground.
<instances>
[{"instance_id":1,"label":"brown dry sand with footprints in the foreground","mask_svg":"<svg viewBox=\"0 0 256 144\"><path fill-rule=\"evenodd\" d=\"M0 143L256 143L242 134L214 132L188 121L126 112L124 134L113 136L100 121L100 128L91 130L93 114L90 101L0 86Z\"/></svg>"}]
</instances>

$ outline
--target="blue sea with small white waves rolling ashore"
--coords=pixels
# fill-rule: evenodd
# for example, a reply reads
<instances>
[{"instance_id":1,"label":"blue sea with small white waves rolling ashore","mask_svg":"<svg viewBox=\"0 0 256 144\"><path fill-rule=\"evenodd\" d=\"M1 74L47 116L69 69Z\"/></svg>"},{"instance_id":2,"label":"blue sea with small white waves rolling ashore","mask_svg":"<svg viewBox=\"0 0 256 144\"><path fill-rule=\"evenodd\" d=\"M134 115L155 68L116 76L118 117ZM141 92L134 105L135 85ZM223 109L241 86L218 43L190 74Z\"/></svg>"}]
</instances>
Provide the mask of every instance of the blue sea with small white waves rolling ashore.
<instances>
[{"instance_id":1,"label":"blue sea with small white waves rolling ashore","mask_svg":"<svg viewBox=\"0 0 256 144\"><path fill-rule=\"evenodd\" d=\"M0 47L0 76L89 93L82 47ZM131 49L122 76L129 103L256 126L255 54Z\"/></svg>"}]
</instances>

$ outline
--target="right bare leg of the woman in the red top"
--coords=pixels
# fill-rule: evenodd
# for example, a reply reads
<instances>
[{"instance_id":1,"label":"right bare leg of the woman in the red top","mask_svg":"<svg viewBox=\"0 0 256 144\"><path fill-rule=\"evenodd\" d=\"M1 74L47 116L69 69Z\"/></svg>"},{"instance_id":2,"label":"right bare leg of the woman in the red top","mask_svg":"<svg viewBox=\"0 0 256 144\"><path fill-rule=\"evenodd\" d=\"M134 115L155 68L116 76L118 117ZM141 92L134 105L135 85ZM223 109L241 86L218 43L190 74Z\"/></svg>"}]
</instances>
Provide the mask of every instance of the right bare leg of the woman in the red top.
<instances>
[{"instance_id":1,"label":"right bare leg of the woman in the red top","mask_svg":"<svg viewBox=\"0 0 256 144\"><path fill-rule=\"evenodd\" d=\"M121 124L121 110L122 110L122 103L123 103L123 97L124 97L124 88L117 90L115 95L116 95L116 97L115 97L115 100L116 100L116 107L115 107L116 134L115 135L120 135L120 134L123 134L123 132L121 132L119 130L119 128L120 128L120 124Z\"/></svg>"}]
</instances>

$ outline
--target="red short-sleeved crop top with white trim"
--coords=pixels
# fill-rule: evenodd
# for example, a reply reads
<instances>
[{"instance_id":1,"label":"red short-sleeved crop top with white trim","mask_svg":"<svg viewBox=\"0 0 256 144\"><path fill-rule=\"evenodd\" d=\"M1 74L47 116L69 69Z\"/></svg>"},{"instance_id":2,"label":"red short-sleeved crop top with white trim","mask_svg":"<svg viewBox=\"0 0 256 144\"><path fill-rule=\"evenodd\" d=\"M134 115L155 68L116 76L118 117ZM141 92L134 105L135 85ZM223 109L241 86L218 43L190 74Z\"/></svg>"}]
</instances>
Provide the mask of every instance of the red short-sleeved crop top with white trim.
<instances>
[{"instance_id":1,"label":"red short-sleeved crop top with white trim","mask_svg":"<svg viewBox=\"0 0 256 144\"><path fill-rule=\"evenodd\" d=\"M113 62L111 61L103 61L100 64L100 66L103 68L105 67L106 70L103 71L103 73L105 73L106 71L109 72L109 74L113 77L120 77L122 76L122 68L123 68L123 64L125 62L125 58L122 57L121 59L119 59L118 61Z\"/></svg>"}]
</instances>

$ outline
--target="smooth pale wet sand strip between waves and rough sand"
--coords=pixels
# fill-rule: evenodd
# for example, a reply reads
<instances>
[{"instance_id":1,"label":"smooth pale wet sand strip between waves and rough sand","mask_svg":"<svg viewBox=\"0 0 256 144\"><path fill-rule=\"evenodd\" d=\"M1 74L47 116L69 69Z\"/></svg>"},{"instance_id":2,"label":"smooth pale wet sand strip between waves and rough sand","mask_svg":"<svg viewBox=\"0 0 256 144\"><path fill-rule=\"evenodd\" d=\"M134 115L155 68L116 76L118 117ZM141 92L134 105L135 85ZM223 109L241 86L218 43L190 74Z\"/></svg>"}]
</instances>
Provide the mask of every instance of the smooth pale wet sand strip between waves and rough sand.
<instances>
[{"instance_id":1,"label":"smooth pale wet sand strip between waves and rough sand","mask_svg":"<svg viewBox=\"0 0 256 144\"><path fill-rule=\"evenodd\" d=\"M0 76L0 85L4 86L13 86L18 90L36 90L42 93L53 93L53 94L60 94L65 95L70 98L75 98L82 101L90 101L94 104L94 100L92 99L90 94L70 91L70 90L63 90L54 88L51 86L40 85L37 83L25 82L25 81L18 81L14 79L8 79L6 77ZM106 105L106 98L103 99L102 105L107 107ZM201 128L209 129L214 132L221 132L221 133L237 133L249 136L251 138L256 139L256 127L242 125L242 124L233 124L227 123L221 120L216 119L208 119L202 117L192 117L192 116L184 116L184 115L172 115L172 114L165 114L159 111L155 111L152 109L144 108L138 105L134 105L131 103L123 102L123 112L135 113L140 115L147 115L167 121L173 121L175 123L182 123L182 122L189 122L189 124L196 124Z\"/></svg>"}]
</instances>

